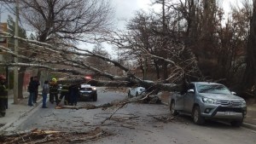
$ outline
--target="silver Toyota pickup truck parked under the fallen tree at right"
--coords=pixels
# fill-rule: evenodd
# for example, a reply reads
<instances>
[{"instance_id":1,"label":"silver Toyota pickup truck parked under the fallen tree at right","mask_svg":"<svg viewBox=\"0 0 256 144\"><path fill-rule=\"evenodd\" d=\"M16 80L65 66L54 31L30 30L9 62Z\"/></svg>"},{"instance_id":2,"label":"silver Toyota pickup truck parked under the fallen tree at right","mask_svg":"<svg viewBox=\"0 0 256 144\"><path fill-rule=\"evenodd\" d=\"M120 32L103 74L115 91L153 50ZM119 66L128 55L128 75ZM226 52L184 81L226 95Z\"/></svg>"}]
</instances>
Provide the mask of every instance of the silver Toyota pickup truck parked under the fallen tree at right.
<instances>
[{"instance_id":1,"label":"silver Toyota pickup truck parked under the fallen tree at right","mask_svg":"<svg viewBox=\"0 0 256 144\"><path fill-rule=\"evenodd\" d=\"M189 113L195 124L204 124L207 118L220 118L233 126L240 126L247 114L246 101L223 84L193 82L186 91L183 95L172 95L172 115Z\"/></svg>"}]
</instances>

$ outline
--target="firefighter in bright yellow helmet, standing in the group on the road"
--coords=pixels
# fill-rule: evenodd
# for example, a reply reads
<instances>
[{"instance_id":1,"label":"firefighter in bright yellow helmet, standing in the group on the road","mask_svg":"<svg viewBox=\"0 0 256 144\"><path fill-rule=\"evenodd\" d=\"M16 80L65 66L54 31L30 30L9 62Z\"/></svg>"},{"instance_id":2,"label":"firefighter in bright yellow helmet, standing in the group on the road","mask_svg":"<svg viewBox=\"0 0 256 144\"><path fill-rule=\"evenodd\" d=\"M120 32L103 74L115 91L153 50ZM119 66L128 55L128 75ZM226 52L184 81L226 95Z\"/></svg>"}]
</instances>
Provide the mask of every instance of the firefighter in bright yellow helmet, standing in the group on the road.
<instances>
[{"instance_id":1,"label":"firefighter in bright yellow helmet, standing in the group on the road","mask_svg":"<svg viewBox=\"0 0 256 144\"><path fill-rule=\"evenodd\" d=\"M57 79L52 78L52 82L49 84L49 95L51 96L49 101L53 104L54 103L53 99L55 98L56 106L59 105L58 89L59 89L59 86L57 84Z\"/></svg>"}]
</instances>

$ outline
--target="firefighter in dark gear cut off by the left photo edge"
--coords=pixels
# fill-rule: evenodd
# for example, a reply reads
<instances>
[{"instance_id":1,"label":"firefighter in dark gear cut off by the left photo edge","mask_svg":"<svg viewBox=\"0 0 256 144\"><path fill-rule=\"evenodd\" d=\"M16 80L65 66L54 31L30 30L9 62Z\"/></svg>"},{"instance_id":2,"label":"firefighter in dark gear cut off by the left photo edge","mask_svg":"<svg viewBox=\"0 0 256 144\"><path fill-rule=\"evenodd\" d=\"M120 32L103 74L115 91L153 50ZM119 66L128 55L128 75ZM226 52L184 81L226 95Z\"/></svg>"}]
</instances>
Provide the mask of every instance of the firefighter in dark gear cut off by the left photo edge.
<instances>
[{"instance_id":1,"label":"firefighter in dark gear cut off by the left photo edge","mask_svg":"<svg viewBox=\"0 0 256 144\"><path fill-rule=\"evenodd\" d=\"M0 75L0 117L5 116L8 107L8 91L5 87L6 78Z\"/></svg>"}]
</instances>

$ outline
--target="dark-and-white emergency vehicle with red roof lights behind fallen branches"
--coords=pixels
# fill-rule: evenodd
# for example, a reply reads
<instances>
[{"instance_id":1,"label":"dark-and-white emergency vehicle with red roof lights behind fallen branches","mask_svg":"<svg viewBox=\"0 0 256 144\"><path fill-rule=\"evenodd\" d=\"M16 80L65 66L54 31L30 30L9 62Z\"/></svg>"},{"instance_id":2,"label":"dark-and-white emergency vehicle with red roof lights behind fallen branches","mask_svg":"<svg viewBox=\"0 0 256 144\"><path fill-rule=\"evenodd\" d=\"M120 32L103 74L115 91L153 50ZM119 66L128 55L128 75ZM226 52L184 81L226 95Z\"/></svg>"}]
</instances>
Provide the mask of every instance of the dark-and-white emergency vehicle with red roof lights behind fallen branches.
<instances>
[{"instance_id":1,"label":"dark-and-white emergency vehicle with red roof lights behind fallen branches","mask_svg":"<svg viewBox=\"0 0 256 144\"><path fill-rule=\"evenodd\" d=\"M79 101L93 100L97 101L97 90L90 84L81 84L79 88Z\"/></svg>"}]
</instances>

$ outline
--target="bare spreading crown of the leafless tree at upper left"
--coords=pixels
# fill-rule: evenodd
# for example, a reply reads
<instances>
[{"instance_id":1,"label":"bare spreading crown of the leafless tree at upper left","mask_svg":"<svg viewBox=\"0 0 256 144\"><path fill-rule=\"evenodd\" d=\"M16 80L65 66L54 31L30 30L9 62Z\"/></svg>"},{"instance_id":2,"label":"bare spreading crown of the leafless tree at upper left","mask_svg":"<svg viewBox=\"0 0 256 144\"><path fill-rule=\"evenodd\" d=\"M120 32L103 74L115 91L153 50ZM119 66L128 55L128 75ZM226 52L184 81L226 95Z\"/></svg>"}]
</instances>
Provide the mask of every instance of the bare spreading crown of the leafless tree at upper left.
<instances>
[{"instance_id":1,"label":"bare spreading crown of the leafless tree at upper left","mask_svg":"<svg viewBox=\"0 0 256 144\"><path fill-rule=\"evenodd\" d=\"M113 17L108 0L20 0L20 6L40 42L86 41L86 35L106 32Z\"/></svg>"}]
</instances>

